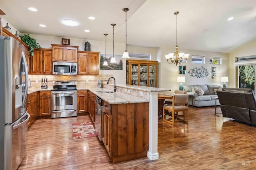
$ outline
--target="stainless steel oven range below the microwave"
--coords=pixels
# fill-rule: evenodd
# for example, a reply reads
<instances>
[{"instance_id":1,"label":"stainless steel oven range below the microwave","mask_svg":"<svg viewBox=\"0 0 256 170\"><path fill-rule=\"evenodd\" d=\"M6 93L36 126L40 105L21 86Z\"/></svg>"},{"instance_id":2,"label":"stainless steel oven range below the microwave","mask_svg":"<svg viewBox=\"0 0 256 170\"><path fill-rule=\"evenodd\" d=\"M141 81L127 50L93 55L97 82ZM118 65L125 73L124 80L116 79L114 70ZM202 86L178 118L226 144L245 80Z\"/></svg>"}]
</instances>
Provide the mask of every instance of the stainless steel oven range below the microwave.
<instances>
[{"instance_id":1,"label":"stainless steel oven range below the microwave","mask_svg":"<svg viewBox=\"0 0 256 170\"><path fill-rule=\"evenodd\" d=\"M54 81L51 97L52 118L77 115L76 81Z\"/></svg>"}]
</instances>

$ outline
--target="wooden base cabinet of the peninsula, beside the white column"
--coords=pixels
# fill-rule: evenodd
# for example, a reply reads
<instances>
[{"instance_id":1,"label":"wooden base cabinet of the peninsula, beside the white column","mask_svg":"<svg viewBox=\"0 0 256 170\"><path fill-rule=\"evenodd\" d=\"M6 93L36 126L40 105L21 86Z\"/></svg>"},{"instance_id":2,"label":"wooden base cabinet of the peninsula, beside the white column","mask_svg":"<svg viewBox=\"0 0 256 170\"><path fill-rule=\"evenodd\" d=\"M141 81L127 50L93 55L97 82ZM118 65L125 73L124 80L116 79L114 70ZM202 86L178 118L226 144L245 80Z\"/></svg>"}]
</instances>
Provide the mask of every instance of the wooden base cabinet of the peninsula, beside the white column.
<instances>
[{"instance_id":1,"label":"wooden base cabinet of the peninsula, beside the white column","mask_svg":"<svg viewBox=\"0 0 256 170\"><path fill-rule=\"evenodd\" d=\"M103 101L102 142L113 163L147 155L149 103L113 104Z\"/></svg>"}]
</instances>

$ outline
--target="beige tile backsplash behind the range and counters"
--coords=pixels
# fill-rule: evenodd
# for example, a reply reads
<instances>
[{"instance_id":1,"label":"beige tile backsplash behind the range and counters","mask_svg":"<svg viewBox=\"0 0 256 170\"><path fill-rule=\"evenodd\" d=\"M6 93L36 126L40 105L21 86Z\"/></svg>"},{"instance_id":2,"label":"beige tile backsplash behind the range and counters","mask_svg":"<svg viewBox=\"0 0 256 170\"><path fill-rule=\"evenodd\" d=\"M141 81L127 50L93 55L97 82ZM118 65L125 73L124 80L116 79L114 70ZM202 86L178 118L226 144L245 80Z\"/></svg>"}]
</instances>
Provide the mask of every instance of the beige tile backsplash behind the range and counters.
<instances>
[{"instance_id":1,"label":"beige tile backsplash behind the range and counters","mask_svg":"<svg viewBox=\"0 0 256 170\"><path fill-rule=\"evenodd\" d=\"M94 88L97 87L97 80L101 79L102 83L107 83L108 78L112 77L112 74L100 74L100 75L72 75L72 76L63 76L63 75L45 75L39 74L28 75L31 81L30 90L41 89L41 80L42 78L47 78L48 80L48 89L51 90L53 88L53 81L61 81L61 80L73 80L76 81L77 88ZM38 80L38 84L36 84L36 80Z\"/></svg>"}]
</instances>

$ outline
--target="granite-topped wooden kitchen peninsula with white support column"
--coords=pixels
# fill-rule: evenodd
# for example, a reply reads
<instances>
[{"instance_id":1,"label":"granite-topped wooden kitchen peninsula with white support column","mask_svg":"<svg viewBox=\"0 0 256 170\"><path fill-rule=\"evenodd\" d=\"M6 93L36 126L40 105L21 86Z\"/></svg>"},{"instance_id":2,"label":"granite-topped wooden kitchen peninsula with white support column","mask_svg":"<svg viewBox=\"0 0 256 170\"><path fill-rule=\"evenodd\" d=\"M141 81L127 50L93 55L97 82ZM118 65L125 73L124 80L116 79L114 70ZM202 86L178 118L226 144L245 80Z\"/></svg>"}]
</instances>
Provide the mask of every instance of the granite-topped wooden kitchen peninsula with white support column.
<instances>
[{"instance_id":1,"label":"granite-topped wooden kitchen peninsula with white support column","mask_svg":"<svg viewBox=\"0 0 256 170\"><path fill-rule=\"evenodd\" d=\"M102 141L113 162L146 155L151 160L158 159L158 92L170 89L117 85L113 92L114 84L103 84L103 87L78 87L78 91L88 91L103 100Z\"/></svg>"}]
</instances>

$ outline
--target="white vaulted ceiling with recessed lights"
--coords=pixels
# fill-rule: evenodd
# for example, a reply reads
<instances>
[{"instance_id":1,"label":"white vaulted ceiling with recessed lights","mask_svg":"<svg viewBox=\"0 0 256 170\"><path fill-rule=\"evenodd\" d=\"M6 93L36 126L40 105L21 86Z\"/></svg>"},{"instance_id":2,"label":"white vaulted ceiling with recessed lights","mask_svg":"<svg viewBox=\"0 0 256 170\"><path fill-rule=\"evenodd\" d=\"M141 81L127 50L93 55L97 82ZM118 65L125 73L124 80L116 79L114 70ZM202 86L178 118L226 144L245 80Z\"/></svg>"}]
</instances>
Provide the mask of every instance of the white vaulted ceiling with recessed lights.
<instances>
[{"instance_id":1,"label":"white vaulted ceiling with recessed lights","mask_svg":"<svg viewBox=\"0 0 256 170\"><path fill-rule=\"evenodd\" d=\"M28 10L37 8L37 12ZM3 18L20 33L53 35L80 39L125 42L127 12L127 45L170 47L228 53L256 39L256 0L1 0ZM94 16L95 20L89 20ZM228 21L229 17L234 17ZM77 27L62 25L71 19ZM44 24L46 27L39 27ZM5 25L3 25L5 26ZM84 32L89 29L90 32Z\"/></svg>"}]
</instances>

